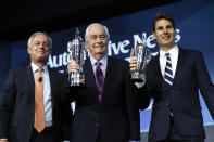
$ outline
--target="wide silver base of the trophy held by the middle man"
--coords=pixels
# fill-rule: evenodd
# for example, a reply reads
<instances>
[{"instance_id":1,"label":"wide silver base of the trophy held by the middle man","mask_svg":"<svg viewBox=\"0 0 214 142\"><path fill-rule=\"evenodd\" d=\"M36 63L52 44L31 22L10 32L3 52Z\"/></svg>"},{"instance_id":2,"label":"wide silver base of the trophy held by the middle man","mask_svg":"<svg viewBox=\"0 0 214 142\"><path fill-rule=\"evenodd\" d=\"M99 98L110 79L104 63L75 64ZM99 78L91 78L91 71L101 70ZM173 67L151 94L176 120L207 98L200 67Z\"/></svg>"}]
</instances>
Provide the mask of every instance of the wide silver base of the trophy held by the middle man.
<instances>
[{"instance_id":1,"label":"wide silver base of the trophy held by the middle man","mask_svg":"<svg viewBox=\"0 0 214 142\"><path fill-rule=\"evenodd\" d=\"M70 87L76 87L76 86L84 86L85 82L85 74L74 72L70 74Z\"/></svg>"}]
</instances>

